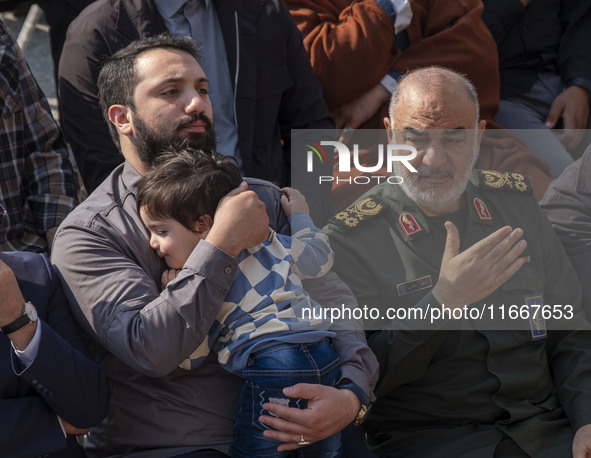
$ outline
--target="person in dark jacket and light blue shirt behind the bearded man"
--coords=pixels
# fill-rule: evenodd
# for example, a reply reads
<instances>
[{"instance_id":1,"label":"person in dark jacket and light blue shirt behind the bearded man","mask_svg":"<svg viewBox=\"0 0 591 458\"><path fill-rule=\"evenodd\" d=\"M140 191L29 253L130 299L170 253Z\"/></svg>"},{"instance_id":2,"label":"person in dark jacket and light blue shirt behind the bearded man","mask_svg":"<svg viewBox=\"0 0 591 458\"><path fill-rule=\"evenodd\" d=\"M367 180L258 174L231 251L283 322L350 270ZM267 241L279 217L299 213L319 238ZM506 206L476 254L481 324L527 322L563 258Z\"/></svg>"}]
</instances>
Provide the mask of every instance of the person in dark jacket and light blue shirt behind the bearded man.
<instances>
[{"instance_id":1,"label":"person in dark jacket and light blue shirt behind the bearded man","mask_svg":"<svg viewBox=\"0 0 591 458\"><path fill-rule=\"evenodd\" d=\"M86 188L94 190L123 162L99 107L105 57L165 32L201 46L199 64L215 81L215 149L235 156L244 176L289 186L297 157L291 130L333 129L334 121L283 2L97 0L72 22L59 69L62 123ZM310 182L302 191L328 197L330 189ZM318 206L327 200L308 200L317 224L331 216Z\"/></svg>"}]
</instances>

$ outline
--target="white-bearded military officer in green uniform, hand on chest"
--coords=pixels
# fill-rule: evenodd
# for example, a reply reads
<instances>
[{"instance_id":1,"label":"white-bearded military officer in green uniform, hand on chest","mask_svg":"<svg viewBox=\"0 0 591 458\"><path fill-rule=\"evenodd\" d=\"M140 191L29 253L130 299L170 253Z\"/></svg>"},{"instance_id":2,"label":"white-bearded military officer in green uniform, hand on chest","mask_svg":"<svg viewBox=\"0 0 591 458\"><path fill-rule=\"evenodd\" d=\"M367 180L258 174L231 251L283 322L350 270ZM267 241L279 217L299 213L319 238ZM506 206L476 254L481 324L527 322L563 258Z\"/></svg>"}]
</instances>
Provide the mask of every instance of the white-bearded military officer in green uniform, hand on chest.
<instances>
[{"instance_id":1,"label":"white-bearded military officer in green uniform, hand on chest","mask_svg":"<svg viewBox=\"0 0 591 458\"><path fill-rule=\"evenodd\" d=\"M583 319L581 288L527 178L471 170L483 128L471 83L440 67L411 72L385 123L416 148L417 172L399 163L402 185L376 186L325 228L360 306L426 313L400 326L391 314L393 329L369 331L380 362L370 447L413 458L591 456L591 339L568 331ZM431 323L444 306L485 316Z\"/></svg>"}]
</instances>

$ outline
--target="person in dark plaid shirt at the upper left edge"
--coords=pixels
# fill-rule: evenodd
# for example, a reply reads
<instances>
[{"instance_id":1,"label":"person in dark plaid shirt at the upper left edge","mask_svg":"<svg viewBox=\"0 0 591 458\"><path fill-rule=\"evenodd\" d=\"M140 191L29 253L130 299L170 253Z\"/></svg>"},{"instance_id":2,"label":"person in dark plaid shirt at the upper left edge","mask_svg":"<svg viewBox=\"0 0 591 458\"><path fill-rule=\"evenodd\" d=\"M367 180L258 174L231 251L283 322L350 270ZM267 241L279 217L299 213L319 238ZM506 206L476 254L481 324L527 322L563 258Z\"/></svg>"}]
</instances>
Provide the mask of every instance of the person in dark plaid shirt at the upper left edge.
<instances>
[{"instance_id":1,"label":"person in dark plaid shirt at the upper left edge","mask_svg":"<svg viewBox=\"0 0 591 458\"><path fill-rule=\"evenodd\" d=\"M0 250L49 253L78 203L77 179L59 126L20 48L0 19Z\"/></svg>"}]
</instances>

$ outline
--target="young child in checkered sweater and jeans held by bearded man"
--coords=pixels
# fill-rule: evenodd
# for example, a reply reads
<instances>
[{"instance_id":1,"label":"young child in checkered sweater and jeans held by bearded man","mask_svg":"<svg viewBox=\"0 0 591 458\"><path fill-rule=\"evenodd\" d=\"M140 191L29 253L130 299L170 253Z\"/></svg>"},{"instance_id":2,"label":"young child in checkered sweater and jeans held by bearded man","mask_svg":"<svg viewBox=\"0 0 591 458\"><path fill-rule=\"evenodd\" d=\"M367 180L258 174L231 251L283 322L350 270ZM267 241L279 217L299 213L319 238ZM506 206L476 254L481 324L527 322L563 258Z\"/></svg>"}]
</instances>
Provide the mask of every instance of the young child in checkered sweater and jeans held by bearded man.
<instances>
[{"instance_id":1,"label":"young child in checkered sweater and jeans held by bearded man","mask_svg":"<svg viewBox=\"0 0 591 458\"><path fill-rule=\"evenodd\" d=\"M162 288L181 272L213 225L220 200L242 182L240 170L217 153L179 150L162 154L138 183L136 202L150 232L150 246L166 261ZM234 457L283 456L267 439L263 402L298 406L282 389L296 383L334 386L340 378L333 332L321 319L320 305L304 291L301 279L320 278L332 267L328 238L314 227L304 197L282 189L281 205L293 237L269 237L237 256L238 273L208 336L181 364L195 369L210 350L227 371L243 377L234 423ZM316 309L316 311L314 311ZM307 318L306 318L307 316ZM304 404L305 405L305 404ZM253 406L259 406L253 411ZM302 445L304 445L302 439ZM338 434L301 450L301 456L340 456Z\"/></svg>"}]
</instances>

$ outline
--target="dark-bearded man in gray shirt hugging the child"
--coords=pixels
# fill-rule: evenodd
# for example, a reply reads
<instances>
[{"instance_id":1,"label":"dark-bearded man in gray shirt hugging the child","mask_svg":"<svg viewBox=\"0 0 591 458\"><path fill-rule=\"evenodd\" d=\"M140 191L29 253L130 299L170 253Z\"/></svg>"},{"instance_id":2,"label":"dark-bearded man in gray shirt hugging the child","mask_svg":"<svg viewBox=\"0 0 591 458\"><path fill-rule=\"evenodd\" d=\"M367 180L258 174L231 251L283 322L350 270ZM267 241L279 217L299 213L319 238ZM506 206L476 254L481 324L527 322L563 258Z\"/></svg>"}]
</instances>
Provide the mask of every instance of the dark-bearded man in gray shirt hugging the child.
<instances>
[{"instance_id":1,"label":"dark-bearded man in gray shirt hugging the child","mask_svg":"<svg viewBox=\"0 0 591 458\"><path fill-rule=\"evenodd\" d=\"M236 272L235 255L260 243L269 225L283 231L288 225L277 188L258 180L247 190L243 183L222 200L209 235L182 272L158 290L166 266L149 246L135 192L162 148L179 141L204 149L215 144L209 81L194 56L190 39L162 35L133 42L107 61L99 96L125 162L56 235L52 260L112 386L110 414L87 438L89 456L226 456L232 442L241 380L215 355L194 371L178 365L218 314ZM334 274L321 281L319 303L351 303ZM265 435L279 449L342 430L372 400L377 363L363 332L339 331L333 346L342 364L337 387L287 388L286 395L308 400L304 410L264 405L276 415L261 417L273 428Z\"/></svg>"}]
</instances>

